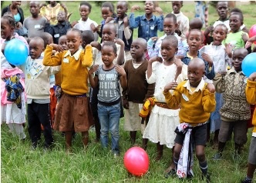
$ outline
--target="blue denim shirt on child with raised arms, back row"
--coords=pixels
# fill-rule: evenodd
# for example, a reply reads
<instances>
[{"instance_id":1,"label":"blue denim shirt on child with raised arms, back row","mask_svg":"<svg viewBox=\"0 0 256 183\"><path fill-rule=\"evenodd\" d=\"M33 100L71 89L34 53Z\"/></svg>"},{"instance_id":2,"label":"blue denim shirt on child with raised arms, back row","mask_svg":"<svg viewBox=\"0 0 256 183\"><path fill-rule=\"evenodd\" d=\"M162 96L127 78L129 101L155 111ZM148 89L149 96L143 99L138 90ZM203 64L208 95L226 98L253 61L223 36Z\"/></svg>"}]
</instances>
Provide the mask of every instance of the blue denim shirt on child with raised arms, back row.
<instances>
[{"instance_id":1,"label":"blue denim shirt on child with raised arms, back row","mask_svg":"<svg viewBox=\"0 0 256 183\"><path fill-rule=\"evenodd\" d=\"M139 28L138 38L144 38L148 41L152 37L157 37L157 30L163 31L163 15L160 15L160 17L152 15L150 20L147 20L145 15L134 18L134 13L131 13L129 25L130 28Z\"/></svg>"}]
</instances>

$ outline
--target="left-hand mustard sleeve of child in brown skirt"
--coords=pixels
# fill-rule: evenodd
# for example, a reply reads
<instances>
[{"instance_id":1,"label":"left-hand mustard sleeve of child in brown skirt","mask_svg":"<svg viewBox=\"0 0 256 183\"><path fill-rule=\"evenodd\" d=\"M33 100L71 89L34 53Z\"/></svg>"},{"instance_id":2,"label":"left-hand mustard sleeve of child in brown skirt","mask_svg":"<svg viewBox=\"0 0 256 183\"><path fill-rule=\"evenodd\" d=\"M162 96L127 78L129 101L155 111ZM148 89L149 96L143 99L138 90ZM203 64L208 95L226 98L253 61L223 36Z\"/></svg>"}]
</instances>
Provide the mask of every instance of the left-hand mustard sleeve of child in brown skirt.
<instances>
[{"instance_id":1,"label":"left-hand mustard sleeve of child in brown skirt","mask_svg":"<svg viewBox=\"0 0 256 183\"><path fill-rule=\"evenodd\" d=\"M57 53L52 56L52 46L47 45L45 48L45 55L42 60L42 64L45 66L56 66L62 64L63 52Z\"/></svg>"}]
</instances>

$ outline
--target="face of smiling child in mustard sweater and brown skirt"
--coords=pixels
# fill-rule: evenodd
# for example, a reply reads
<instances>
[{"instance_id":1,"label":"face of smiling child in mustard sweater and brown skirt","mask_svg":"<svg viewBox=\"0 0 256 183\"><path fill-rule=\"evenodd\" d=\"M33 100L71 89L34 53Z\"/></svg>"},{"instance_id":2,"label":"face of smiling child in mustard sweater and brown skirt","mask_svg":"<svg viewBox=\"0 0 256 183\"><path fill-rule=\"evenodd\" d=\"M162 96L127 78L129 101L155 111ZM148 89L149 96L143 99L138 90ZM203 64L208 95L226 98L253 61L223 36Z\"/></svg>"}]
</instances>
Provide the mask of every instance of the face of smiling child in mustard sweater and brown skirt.
<instances>
[{"instance_id":1,"label":"face of smiling child in mustard sweater and brown skirt","mask_svg":"<svg viewBox=\"0 0 256 183\"><path fill-rule=\"evenodd\" d=\"M73 55L82 44L82 38L79 36L78 32L69 31L66 33L66 44L68 45L69 51Z\"/></svg>"}]
</instances>

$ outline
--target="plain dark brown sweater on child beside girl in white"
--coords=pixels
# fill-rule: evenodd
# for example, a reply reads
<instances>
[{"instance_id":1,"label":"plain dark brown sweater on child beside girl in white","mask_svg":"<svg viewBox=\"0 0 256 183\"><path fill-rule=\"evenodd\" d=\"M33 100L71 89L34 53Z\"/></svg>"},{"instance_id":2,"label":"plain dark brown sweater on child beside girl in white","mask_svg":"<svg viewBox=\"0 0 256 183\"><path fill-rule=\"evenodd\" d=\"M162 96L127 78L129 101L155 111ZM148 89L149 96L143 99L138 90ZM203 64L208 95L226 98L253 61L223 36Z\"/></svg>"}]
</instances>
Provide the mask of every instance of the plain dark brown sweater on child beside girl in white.
<instances>
[{"instance_id":1,"label":"plain dark brown sweater on child beside girl in white","mask_svg":"<svg viewBox=\"0 0 256 183\"><path fill-rule=\"evenodd\" d=\"M143 103L153 96L154 84L148 84L146 80L147 60L144 60L138 68L133 67L133 60L124 65L127 78L127 89L123 90L123 97L134 103Z\"/></svg>"}]
</instances>

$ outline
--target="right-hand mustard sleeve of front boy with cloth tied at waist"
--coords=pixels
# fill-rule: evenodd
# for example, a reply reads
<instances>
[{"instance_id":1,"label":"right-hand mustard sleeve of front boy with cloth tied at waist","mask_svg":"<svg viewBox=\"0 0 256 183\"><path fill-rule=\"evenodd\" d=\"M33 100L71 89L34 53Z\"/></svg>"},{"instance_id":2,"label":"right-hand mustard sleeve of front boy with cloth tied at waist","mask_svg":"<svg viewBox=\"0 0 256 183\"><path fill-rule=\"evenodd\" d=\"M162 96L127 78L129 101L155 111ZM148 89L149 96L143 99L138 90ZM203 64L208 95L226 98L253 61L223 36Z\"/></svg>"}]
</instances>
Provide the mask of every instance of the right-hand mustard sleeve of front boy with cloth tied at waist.
<instances>
[{"instance_id":1,"label":"right-hand mustard sleeve of front boy with cloth tied at waist","mask_svg":"<svg viewBox=\"0 0 256 183\"><path fill-rule=\"evenodd\" d=\"M215 101L215 93L209 92L208 89L204 89L202 105L204 107L204 111L211 112L215 110L216 101Z\"/></svg>"}]
</instances>

